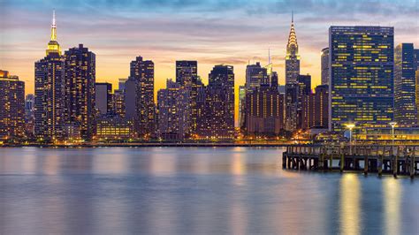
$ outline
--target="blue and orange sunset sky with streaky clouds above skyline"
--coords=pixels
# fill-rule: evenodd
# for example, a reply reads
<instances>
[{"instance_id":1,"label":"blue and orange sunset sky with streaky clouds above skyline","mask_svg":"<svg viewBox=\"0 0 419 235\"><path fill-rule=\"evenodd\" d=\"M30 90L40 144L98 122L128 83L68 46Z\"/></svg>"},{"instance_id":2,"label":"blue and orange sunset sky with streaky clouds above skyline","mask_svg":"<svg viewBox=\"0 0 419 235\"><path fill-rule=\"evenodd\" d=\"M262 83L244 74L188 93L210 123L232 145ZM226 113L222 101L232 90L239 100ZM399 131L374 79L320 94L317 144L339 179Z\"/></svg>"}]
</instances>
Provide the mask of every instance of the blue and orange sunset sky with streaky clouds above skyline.
<instances>
[{"instance_id":1,"label":"blue and orange sunset sky with streaky clouds above skyline","mask_svg":"<svg viewBox=\"0 0 419 235\"><path fill-rule=\"evenodd\" d=\"M215 64L232 64L235 86L246 65L268 63L284 84L284 57L291 12L301 55L301 74L320 83L320 51L330 26L394 27L395 43L419 48L415 0L0 0L0 69L26 81L34 92L34 62L45 56L52 10L62 50L83 43L96 55L96 80L118 88L135 57L155 63L155 91L175 79L176 60L197 60L204 83ZM236 95L238 96L238 95Z\"/></svg>"}]
</instances>

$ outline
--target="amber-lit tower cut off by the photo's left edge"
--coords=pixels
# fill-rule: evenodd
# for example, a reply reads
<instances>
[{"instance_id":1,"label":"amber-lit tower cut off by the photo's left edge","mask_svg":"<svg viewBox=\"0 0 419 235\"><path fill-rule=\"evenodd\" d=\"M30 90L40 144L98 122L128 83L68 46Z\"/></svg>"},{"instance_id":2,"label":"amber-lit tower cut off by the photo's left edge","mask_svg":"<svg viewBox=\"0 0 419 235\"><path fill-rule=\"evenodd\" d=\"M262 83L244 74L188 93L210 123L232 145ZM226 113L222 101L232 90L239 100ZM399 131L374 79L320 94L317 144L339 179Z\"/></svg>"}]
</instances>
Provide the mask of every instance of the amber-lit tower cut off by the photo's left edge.
<instances>
[{"instance_id":1,"label":"amber-lit tower cut off by the photo's left edge","mask_svg":"<svg viewBox=\"0 0 419 235\"><path fill-rule=\"evenodd\" d=\"M25 82L0 70L0 140L25 135Z\"/></svg>"}]
</instances>

